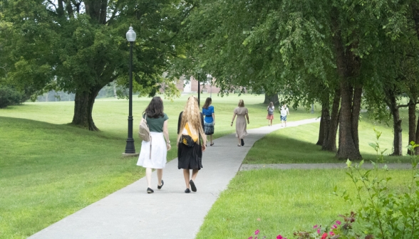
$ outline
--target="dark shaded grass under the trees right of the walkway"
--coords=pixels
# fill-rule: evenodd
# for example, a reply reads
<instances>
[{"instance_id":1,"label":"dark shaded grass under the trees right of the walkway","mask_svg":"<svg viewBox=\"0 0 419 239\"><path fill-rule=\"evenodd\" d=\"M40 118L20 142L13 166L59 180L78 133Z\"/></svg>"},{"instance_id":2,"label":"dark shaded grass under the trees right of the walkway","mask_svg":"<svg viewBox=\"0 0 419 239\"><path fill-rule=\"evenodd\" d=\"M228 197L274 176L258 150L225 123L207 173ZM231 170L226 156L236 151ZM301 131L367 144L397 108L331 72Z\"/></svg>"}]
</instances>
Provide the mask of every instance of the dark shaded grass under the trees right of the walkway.
<instances>
[{"instance_id":1,"label":"dark shaded grass under the trees right of the walkway","mask_svg":"<svg viewBox=\"0 0 419 239\"><path fill-rule=\"evenodd\" d=\"M374 154L363 154L365 161L376 161ZM386 163L410 163L408 156L385 156ZM357 162L357 161L355 161ZM342 163L336 152L321 150L321 146L281 134L268 134L250 149L243 164L323 164Z\"/></svg>"}]
</instances>

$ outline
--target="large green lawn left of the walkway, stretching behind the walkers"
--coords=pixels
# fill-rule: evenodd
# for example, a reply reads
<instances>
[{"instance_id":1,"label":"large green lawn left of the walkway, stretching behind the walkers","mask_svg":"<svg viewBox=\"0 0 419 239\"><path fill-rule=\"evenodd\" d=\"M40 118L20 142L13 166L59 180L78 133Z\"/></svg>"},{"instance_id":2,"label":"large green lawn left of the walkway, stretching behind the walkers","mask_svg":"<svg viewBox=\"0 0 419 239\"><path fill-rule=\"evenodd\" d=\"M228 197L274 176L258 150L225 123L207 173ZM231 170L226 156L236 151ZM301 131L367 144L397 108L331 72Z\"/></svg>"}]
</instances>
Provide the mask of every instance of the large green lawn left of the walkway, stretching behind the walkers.
<instances>
[{"instance_id":1,"label":"large green lawn left of the walkway, stretching behind the walkers","mask_svg":"<svg viewBox=\"0 0 419 239\"><path fill-rule=\"evenodd\" d=\"M165 102L176 157L177 117L187 97ZM209 94L202 94L202 102ZM249 128L267 124L263 95L212 95L215 137L234 132L232 111L239 99L249 109ZM140 114L150 98L133 101L135 149ZM28 102L0 110L0 238L26 238L144 176L136 158L123 158L128 101L96 100L93 120L100 132L71 126L74 102ZM291 110L289 120L316 117Z\"/></svg>"}]
</instances>

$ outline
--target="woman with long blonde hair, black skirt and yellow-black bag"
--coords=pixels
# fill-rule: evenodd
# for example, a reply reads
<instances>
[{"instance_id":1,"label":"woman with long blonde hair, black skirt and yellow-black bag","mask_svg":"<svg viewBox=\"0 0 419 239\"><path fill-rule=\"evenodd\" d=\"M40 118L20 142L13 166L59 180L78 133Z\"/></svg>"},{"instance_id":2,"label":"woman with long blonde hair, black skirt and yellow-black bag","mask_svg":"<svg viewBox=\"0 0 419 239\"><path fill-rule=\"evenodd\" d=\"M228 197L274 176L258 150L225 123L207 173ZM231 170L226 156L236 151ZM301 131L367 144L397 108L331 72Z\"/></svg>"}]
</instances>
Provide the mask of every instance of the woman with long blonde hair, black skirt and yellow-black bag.
<instances>
[{"instance_id":1,"label":"woman with long blonde hair, black skirt and yellow-black bag","mask_svg":"<svg viewBox=\"0 0 419 239\"><path fill-rule=\"evenodd\" d=\"M197 98L192 95L187 99L177 121L177 168L183 169L185 193L190 193L190 190L197 191L195 179L202 168L202 152L205 151L207 144L203 127L204 117L200 112Z\"/></svg>"}]
</instances>

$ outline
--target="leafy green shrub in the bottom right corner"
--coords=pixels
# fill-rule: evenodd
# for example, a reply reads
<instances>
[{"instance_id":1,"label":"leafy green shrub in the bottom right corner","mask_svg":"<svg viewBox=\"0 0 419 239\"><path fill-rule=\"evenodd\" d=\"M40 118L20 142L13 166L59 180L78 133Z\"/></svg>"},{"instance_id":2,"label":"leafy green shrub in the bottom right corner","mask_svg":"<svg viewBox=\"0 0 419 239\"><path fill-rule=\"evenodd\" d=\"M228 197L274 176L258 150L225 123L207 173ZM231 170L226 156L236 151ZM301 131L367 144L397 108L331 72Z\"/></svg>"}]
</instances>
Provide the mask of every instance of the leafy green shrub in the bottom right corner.
<instances>
[{"instance_id":1,"label":"leafy green shrub in the bottom right corner","mask_svg":"<svg viewBox=\"0 0 419 239\"><path fill-rule=\"evenodd\" d=\"M348 160L346 162L349 171L348 176L356 186L358 201L361 208L358 210L358 222L363 227L363 232L374 235L376 238L419 238L419 181L418 181L418 157L410 155L412 167L410 181L406 183L404 191L391 190L388 186L390 177L386 176L388 166L384 164L382 169L378 163L383 163L383 153L379 145L381 132L376 132L376 142L369 144L377 153L377 161L371 161L373 169L361 169L363 161L355 166ZM415 152L418 147L415 142L410 142L408 149ZM335 187L335 193L337 188ZM341 195L346 200L351 200L347 192Z\"/></svg>"}]
</instances>

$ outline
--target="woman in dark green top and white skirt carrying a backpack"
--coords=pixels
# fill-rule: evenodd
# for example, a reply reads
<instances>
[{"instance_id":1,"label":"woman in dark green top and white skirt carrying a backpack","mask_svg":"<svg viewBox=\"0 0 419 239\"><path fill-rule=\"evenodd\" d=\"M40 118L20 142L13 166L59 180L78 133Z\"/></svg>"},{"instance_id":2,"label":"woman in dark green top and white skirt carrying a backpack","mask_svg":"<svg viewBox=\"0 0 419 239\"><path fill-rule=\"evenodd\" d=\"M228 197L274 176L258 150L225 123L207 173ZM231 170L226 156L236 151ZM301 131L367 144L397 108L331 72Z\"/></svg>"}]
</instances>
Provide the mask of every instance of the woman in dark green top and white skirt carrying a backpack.
<instances>
[{"instance_id":1,"label":"woman in dark green top and white skirt carrying a backpack","mask_svg":"<svg viewBox=\"0 0 419 239\"><path fill-rule=\"evenodd\" d=\"M150 104L143 112L143 120L147 121L150 128L149 142L141 143L140 157L137 165L145 167L145 178L147 179L147 193L154 193L151 188L152 169L157 169L157 188L161 189L164 182L162 180L163 169L167 162L167 150L170 150L169 132L167 130L167 115L163 112L162 98L152 97ZM166 140L165 140L166 139Z\"/></svg>"}]
</instances>

